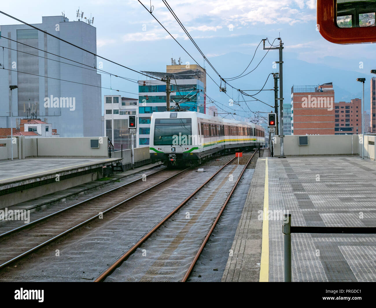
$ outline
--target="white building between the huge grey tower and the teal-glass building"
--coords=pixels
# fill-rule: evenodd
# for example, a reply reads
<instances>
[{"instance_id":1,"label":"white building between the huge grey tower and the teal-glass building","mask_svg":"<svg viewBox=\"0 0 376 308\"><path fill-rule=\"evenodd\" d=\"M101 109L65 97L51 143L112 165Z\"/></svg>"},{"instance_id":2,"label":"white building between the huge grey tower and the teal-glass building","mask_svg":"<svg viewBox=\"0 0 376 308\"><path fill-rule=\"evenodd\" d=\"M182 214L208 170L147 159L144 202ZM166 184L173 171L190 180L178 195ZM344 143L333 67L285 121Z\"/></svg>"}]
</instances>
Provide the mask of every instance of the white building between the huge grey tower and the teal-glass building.
<instances>
[{"instance_id":1,"label":"white building between the huge grey tower and the teal-glass building","mask_svg":"<svg viewBox=\"0 0 376 308\"><path fill-rule=\"evenodd\" d=\"M105 95L105 136L109 137L114 150L132 148L129 134L129 116L135 115L138 122L138 100L136 98L121 97L121 95ZM134 147L138 145L139 128L134 138Z\"/></svg>"}]
</instances>

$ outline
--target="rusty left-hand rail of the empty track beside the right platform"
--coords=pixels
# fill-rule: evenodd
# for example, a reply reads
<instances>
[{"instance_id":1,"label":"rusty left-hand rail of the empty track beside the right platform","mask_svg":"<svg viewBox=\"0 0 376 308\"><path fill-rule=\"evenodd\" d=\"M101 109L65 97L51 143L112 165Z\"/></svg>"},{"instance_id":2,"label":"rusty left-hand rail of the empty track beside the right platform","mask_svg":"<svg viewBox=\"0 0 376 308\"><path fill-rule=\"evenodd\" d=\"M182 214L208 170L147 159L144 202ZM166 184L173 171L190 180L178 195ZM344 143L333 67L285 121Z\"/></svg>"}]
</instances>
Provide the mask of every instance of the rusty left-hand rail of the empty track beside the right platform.
<instances>
[{"instance_id":1,"label":"rusty left-hand rail of the empty track beside the right platform","mask_svg":"<svg viewBox=\"0 0 376 308\"><path fill-rule=\"evenodd\" d=\"M255 153L253 153L255 154ZM94 282L101 282L103 281L110 273L112 273L124 260L126 260L126 258L128 258L131 254L133 254L133 252L136 251L136 249L143 243L145 242L145 240L147 240L153 233L154 231L156 231L167 219L169 219L173 214L175 214L177 212L177 210L179 210L184 204L186 204L194 195L196 195L196 193L202 189L202 187L204 187L206 184L209 183L209 181L211 181L215 175L217 175L224 167L226 167L227 165L229 165L230 163L233 162L233 160L235 160L236 157L234 157L233 159L231 159L229 162L227 162L225 165L223 165L221 168L219 168L208 180L205 181L205 183L203 183L200 187L198 187L193 193L191 193L188 197L186 197L182 202L180 202L180 204L174 208L170 213L167 214L167 216L164 217L164 219L162 219L158 224L156 224L147 234L145 234L143 237L141 237L141 239L139 239L135 245L133 245L129 250L127 250L127 252L125 254L123 254L120 258L118 258L118 260L115 261L114 264L112 264L107 270L105 270L105 272L103 272L96 280L94 280Z\"/></svg>"}]
</instances>

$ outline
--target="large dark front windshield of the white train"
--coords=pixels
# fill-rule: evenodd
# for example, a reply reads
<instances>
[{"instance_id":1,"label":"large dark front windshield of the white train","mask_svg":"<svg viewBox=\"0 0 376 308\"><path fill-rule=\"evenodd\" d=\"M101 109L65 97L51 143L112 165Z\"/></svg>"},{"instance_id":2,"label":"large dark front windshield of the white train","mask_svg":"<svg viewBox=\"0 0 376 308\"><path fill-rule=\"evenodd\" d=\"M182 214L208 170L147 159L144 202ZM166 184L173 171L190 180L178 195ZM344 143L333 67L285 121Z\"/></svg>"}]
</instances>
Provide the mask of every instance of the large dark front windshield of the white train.
<instances>
[{"instance_id":1,"label":"large dark front windshield of the white train","mask_svg":"<svg viewBox=\"0 0 376 308\"><path fill-rule=\"evenodd\" d=\"M191 144L192 119L155 119L154 145Z\"/></svg>"}]
</instances>

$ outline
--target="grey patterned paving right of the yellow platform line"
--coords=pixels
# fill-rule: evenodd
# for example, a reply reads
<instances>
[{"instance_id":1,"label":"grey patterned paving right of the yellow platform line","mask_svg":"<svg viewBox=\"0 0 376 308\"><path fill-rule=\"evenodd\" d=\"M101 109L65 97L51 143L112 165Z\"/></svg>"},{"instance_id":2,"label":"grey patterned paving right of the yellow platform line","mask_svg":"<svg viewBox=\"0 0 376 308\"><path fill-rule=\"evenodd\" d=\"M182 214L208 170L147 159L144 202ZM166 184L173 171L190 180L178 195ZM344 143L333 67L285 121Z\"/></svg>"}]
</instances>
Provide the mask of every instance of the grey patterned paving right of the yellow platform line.
<instances>
[{"instance_id":1,"label":"grey patterned paving right of the yellow platform line","mask_svg":"<svg viewBox=\"0 0 376 308\"><path fill-rule=\"evenodd\" d=\"M269 210L294 226L376 226L376 163L268 158ZM269 281L283 281L282 221L269 221ZM376 234L292 234L293 281L376 281Z\"/></svg>"}]
</instances>

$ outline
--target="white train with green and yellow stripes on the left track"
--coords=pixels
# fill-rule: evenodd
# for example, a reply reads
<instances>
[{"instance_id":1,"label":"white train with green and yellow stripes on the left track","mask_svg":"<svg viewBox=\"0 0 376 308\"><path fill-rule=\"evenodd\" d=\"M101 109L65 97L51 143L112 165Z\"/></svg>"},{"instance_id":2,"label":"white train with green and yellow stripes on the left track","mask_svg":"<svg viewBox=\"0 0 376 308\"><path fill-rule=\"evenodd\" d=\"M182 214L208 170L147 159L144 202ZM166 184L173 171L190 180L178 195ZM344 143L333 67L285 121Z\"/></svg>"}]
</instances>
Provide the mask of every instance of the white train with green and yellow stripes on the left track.
<instances>
[{"instance_id":1,"label":"white train with green and yellow stripes on the left track","mask_svg":"<svg viewBox=\"0 0 376 308\"><path fill-rule=\"evenodd\" d=\"M265 146L259 125L208 116L203 113L153 112L150 158L165 165L193 165L214 154Z\"/></svg>"}]
</instances>

